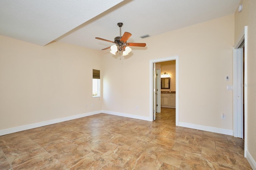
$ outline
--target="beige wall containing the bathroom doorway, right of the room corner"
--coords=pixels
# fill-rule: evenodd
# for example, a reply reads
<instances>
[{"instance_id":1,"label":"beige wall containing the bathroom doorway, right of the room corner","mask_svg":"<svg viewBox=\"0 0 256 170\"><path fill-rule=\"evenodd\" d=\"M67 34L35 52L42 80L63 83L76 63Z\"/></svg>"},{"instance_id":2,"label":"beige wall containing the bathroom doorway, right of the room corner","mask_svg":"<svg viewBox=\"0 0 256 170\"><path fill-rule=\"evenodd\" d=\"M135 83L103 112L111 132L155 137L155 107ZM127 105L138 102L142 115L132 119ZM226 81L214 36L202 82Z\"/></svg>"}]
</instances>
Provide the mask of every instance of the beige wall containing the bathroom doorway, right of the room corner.
<instances>
[{"instance_id":1,"label":"beige wall containing the bathroom doorway, right of the room corner","mask_svg":"<svg viewBox=\"0 0 256 170\"><path fill-rule=\"evenodd\" d=\"M149 116L149 60L179 55L180 121L233 129L232 91L226 86L233 81L234 15L141 42L145 49L133 47L121 60L103 52L103 110Z\"/></svg>"}]
</instances>

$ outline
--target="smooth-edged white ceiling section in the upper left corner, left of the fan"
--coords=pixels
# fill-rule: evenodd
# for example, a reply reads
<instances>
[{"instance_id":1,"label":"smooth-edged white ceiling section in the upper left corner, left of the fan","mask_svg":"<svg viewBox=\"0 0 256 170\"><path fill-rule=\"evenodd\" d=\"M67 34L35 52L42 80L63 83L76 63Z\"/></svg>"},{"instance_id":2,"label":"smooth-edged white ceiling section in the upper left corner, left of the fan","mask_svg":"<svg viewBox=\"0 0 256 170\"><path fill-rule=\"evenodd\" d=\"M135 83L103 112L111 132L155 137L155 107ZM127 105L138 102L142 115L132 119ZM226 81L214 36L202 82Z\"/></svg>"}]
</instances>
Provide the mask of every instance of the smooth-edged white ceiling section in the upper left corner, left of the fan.
<instances>
[{"instance_id":1,"label":"smooth-edged white ceiling section in the upper left corner, left of the fan","mask_svg":"<svg viewBox=\"0 0 256 170\"><path fill-rule=\"evenodd\" d=\"M0 0L0 34L46 45L123 0Z\"/></svg>"}]
</instances>

